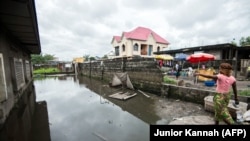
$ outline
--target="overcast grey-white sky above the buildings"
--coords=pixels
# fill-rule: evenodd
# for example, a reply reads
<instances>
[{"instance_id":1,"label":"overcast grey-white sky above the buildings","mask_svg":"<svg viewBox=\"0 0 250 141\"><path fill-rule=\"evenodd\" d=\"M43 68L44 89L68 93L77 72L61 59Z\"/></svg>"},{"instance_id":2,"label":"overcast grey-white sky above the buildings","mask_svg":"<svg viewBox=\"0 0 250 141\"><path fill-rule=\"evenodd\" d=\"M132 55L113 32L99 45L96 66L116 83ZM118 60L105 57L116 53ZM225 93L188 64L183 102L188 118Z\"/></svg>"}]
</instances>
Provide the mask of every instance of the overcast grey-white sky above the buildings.
<instances>
[{"instance_id":1,"label":"overcast grey-white sky above the buildings","mask_svg":"<svg viewBox=\"0 0 250 141\"><path fill-rule=\"evenodd\" d=\"M114 35L138 26L169 49L228 43L250 36L249 0L35 0L43 54L71 61L114 51Z\"/></svg>"}]
</instances>

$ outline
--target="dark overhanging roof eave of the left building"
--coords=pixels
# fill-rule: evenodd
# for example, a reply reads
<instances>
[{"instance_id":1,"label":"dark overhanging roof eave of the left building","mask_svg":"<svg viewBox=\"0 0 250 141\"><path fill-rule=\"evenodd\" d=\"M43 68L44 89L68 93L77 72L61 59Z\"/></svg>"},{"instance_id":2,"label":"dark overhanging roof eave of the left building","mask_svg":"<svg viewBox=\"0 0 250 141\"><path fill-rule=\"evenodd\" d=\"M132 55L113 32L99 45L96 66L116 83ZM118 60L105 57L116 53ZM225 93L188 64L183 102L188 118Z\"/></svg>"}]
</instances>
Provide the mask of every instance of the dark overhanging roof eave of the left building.
<instances>
[{"instance_id":1,"label":"dark overhanging roof eave of the left building","mask_svg":"<svg viewBox=\"0 0 250 141\"><path fill-rule=\"evenodd\" d=\"M40 54L41 44L35 0L1 0L0 24L30 54Z\"/></svg>"}]
</instances>

